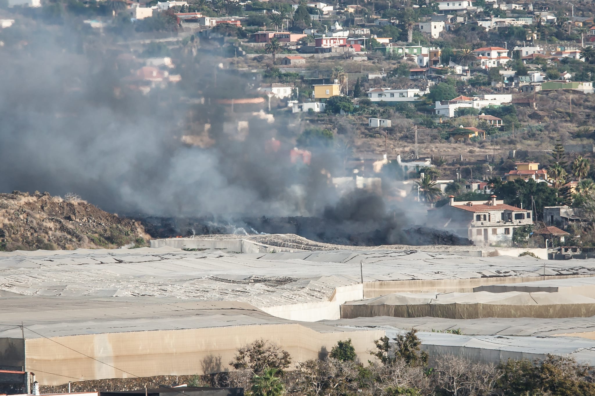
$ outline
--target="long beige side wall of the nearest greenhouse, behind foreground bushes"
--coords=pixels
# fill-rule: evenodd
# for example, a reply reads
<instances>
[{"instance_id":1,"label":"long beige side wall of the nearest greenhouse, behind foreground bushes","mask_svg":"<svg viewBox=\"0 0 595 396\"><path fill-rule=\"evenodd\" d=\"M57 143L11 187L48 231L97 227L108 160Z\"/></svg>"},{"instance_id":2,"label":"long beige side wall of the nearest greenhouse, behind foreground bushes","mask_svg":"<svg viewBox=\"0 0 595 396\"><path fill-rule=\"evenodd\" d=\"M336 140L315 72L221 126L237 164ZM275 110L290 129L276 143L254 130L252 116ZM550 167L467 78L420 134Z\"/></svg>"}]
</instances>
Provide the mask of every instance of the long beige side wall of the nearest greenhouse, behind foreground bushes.
<instances>
[{"instance_id":1,"label":"long beige side wall of the nearest greenhouse, behind foreground bushes","mask_svg":"<svg viewBox=\"0 0 595 396\"><path fill-rule=\"evenodd\" d=\"M47 338L35 338L26 341L26 370L35 372L42 385L129 378L126 372L142 377L202 375L229 370L236 350L261 338L289 351L294 363L314 359L323 347L330 351L337 341L351 338L356 353L367 362L367 350L383 336L382 330L321 333L299 324L278 324L52 338L73 350Z\"/></svg>"}]
</instances>

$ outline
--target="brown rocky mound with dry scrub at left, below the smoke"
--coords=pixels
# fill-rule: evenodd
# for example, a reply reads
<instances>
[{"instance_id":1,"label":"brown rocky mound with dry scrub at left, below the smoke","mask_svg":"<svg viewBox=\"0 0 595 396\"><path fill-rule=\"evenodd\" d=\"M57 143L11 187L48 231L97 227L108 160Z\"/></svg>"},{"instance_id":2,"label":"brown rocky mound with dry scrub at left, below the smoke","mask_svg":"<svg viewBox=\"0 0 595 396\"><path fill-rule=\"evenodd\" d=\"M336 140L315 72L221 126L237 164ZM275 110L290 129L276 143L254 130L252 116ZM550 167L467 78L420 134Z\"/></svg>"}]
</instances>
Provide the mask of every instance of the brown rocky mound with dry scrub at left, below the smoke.
<instances>
[{"instance_id":1,"label":"brown rocky mound with dry scrub at left, below the smoke","mask_svg":"<svg viewBox=\"0 0 595 396\"><path fill-rule=\"evenodd\" d=\"M76 196L0 194L0 251L145 246L148 239L140 223Z\"/></svg>"}]
</instances>

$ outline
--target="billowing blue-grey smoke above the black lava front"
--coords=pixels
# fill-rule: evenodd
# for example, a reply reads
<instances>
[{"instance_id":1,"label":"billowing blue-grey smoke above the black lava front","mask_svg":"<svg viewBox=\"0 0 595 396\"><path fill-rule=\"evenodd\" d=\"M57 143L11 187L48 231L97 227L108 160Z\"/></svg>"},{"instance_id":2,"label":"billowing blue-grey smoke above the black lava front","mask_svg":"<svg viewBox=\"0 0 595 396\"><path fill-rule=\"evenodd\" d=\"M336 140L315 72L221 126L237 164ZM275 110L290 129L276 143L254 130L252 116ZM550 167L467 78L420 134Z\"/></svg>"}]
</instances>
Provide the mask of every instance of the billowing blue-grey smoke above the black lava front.
<instances>
[{"instance_id":1,"label":"billowing blue-grey smoke above the black lava front","mask_svg":"<svg viewBox=\"0 0 595 396\"><path fill-rule=\"evenodd\" d=\"M299 167L290 146L265 152L287 120L253 118L244 141L224 134L239 110L215 99L245 97L250 80L216 71L218 61L199 56L177 88L143 96L123 87L130 69L107 43L80 49L65 28L22 34L26 45L0 47L1 191L76 192L105 210L155 216L305 214L335 199L320 172L340 162L330 153ZM202 105L180 100L201 96ZM212 147L181 142L205 123Z\"/></svg>"}]
</instances>

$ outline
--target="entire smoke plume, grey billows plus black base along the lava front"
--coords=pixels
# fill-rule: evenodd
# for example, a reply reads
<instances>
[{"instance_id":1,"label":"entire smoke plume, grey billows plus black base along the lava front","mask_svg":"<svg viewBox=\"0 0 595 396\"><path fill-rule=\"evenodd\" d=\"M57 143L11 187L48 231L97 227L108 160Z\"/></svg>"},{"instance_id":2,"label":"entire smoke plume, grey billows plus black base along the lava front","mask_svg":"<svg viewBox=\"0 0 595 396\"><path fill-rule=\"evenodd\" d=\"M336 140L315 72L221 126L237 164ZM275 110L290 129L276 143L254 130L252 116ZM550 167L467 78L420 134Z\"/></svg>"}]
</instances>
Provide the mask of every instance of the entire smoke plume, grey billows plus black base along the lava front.
<instances>
[{"instance_id":1,"label":"entire smoke plume, grey billows plus black base along the lava front","mask_svg":"<svg viewBox=\"0 0 595 396\"><path fill-rule=\"evenodd\" d=\"M217 55L174 57L181 82L145 96L127 87L140 65L118 59L130 48L114 37L24 17L0 37L0 191L74 192L145 219L153 236L224 233L235 224L347 245L467 242L408 229L417 222L377 195L340 198L331 175L349 173L332 148L313 150L309 165L292 163L304 125L217 104L257 96L252 78L221 68ZM230 131L236 121L249 121L246 136ZM212 144L183 143L206 124ZM279 150L266 149L271 138Z\"/></svg>"}]
</instances>

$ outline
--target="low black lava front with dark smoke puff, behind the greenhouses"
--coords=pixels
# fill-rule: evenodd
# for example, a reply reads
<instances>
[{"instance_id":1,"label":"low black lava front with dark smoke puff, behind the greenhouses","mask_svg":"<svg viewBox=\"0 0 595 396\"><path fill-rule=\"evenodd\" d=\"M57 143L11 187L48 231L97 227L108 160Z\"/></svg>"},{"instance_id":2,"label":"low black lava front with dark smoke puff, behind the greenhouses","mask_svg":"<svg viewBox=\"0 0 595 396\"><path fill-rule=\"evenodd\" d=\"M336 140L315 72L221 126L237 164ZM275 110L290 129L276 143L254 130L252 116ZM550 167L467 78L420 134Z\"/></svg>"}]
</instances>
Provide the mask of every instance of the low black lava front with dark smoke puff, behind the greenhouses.
<instances>
[{"instance_id":1,"label":"low black lava front with dark smoke puff, behind the greenhouses","mask_svg":"<svg viewBox=\"0 0 595 396\"><path fill-rule=\"evenodd\" d=\"M189 218L145 217L146 231L153 237L221 234L296 234L317 242L337 245L472 245L469 239L428 227L411 226L399 210L387 210L383 199L354 192L327 207L320 217Z\"/></svg>"}]
</instances>

